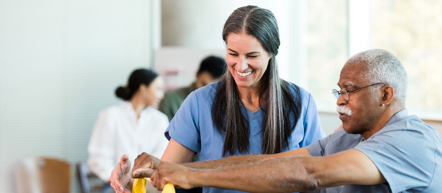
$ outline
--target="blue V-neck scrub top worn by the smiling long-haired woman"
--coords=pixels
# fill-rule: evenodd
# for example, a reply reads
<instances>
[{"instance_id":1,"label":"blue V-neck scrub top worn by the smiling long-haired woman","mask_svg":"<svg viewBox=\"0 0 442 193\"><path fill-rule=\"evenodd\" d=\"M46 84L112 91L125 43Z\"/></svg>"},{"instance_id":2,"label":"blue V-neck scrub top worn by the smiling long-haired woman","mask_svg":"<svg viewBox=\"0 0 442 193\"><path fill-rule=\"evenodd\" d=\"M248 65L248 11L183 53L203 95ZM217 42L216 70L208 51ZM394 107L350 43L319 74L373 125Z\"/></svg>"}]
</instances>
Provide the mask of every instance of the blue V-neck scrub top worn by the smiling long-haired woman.
<instances>
[{"instance_id":1,"label":"blue V-neck scrub top worn by the smiling long-haired woman","mask_svg":"<svg viewBox=\"0 0 442 193\"><path fill-rule=\"evenodd\" d=\"M199 152L202 161L222 158L224 135L220 135L214 127L211 113L217 85L218 82L215 82L192 92L184 100L164 133L169 140L172 138L192 151ZM290 90L296 96L294 85L291 83L290 85ZM320 126L315 101L310 93L302 88L299 89L302 104L301 116L292 132L290 145L284 151L308 146L325 137ZM242 109L245 117L249 119L250 151L248 154L262 154L261 129L264 113L262 110L252 113ZM294 117L291 119L294 122ZM240 191L204 187L203 192L239 193Z\"/></svg>"}]
</instances>

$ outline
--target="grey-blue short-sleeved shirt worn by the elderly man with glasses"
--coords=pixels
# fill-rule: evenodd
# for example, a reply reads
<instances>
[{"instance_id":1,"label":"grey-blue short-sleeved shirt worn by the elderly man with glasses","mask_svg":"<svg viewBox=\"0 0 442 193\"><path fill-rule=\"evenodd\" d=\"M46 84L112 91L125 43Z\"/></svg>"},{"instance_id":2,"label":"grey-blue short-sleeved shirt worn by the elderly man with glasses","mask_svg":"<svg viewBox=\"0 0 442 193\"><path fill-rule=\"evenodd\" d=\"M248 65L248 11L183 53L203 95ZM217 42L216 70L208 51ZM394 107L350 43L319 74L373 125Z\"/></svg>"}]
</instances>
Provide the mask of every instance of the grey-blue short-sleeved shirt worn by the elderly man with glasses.
<instances>
[{"instance_id":1,"label":"grey-blue short-sleeved shirt worn by the elderly man with glasses","mask_svg":"<svg viewBox=\"0 0 442 193\"><path fill-rule=\"evenodd\" d=\"M312 156L349 149L366 154L388 183L342 185L321 193L436 193L442 191L442 137L407 110L397 112L369 139L343 129L307 146Z\"/></svg>"}]
</instances>

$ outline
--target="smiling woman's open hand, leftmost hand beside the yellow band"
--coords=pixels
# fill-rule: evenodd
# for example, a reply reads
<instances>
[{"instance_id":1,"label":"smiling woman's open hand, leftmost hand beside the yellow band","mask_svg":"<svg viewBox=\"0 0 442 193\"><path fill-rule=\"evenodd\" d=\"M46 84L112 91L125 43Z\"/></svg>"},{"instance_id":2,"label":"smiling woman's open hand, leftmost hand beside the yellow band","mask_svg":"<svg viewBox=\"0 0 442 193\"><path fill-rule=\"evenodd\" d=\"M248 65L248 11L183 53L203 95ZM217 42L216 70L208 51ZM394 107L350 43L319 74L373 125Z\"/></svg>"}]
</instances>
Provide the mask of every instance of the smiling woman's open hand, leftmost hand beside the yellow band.
<instances>
[{"instance_id":1,"label":"smiling woman's open hand, leftmost hand beside the yellow band","mask_svg":"<svg viewBox=\"0 0 442 193\"><path fill-rule=\"evenodd\" d=\"M130 160L127 155L123 155L120 158L120 162L112 170L109 178L110 186L114 188L116 193L130 193L124 188L130 180Z\"/></svg>"}]
</instances>

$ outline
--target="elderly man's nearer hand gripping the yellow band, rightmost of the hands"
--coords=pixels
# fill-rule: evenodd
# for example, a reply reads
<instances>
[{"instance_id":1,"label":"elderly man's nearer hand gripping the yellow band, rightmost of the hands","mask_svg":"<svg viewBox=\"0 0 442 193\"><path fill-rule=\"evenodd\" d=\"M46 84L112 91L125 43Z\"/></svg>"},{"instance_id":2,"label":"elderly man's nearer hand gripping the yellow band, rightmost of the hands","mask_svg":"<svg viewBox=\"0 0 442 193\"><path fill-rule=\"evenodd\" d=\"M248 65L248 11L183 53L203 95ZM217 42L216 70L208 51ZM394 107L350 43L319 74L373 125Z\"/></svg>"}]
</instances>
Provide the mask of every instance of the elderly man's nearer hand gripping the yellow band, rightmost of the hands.
<instances>
[{"instance_id":1,"label":"elderly man's nearer hand gripping the yellow band, rightmost of the hands","mask_svg":"<svg viewBox=\"0 0 442 193\"><path fill-rule=\"evenodd\" d=\"M158 169L150 177L150 183L158 190L162 190L164 185L172 183L175 187L191 189L194 185L195 175L198 170L181 166L170 162L161 162Z\"/></svg>"}]
</instances>

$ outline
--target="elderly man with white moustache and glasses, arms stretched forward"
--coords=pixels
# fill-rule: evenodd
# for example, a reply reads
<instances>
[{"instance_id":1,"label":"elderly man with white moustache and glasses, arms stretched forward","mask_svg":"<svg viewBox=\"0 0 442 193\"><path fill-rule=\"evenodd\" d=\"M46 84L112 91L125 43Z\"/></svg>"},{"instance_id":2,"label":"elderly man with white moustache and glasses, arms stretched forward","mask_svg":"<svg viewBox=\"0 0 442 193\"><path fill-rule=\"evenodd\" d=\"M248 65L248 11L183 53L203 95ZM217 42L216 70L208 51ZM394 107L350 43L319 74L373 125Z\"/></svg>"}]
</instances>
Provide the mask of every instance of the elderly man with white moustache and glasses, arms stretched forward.
<instances>
[{"instance_id":1,"label":"elderly man with white moustache and glasses, arms stretched forward","mask_svg":"<svg viewBox=\"0 0 442 193\"><path fill-rule=\"evenodd\" d=\"M307 147L183 165L143 153L132 176L149 176L153 170L146 168L158 168L151 178L157 189L171 182L266 193L440 192L442 137L408 115L407 74L399 60L379 49L355 54L341 70L338 86L333 93L343 129ZM120 163L123 169L130 166L124 157Z\"/></svg>"}]
</instances>

